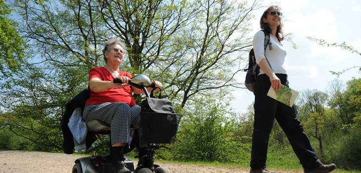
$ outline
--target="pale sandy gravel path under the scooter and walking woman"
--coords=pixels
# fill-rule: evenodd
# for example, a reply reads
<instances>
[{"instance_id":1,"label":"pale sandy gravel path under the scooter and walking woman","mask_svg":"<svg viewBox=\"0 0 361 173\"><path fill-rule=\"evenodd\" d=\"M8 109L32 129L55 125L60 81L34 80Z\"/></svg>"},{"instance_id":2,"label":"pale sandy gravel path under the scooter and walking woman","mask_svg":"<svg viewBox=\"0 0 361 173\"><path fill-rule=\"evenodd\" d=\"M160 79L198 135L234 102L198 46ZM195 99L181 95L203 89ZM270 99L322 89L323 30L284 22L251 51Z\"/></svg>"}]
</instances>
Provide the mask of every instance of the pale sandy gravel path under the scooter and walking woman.
<instances>
[{"instance_id":1,"label":"pale sandy gravel path under the scooter and walking woman","mask_svg":"<svg viewBox=\"0 0 361 173\"><path fill-rule=\"evenodd\" d=\"M0 173L71 173L74 161L82 156L33 151L0 151ZM135 163L136 165L136 163ZM249 173L249 169L161 164L171 173ZM282 171L280 173L301 173Z\"/></svg>"}]
</instances>

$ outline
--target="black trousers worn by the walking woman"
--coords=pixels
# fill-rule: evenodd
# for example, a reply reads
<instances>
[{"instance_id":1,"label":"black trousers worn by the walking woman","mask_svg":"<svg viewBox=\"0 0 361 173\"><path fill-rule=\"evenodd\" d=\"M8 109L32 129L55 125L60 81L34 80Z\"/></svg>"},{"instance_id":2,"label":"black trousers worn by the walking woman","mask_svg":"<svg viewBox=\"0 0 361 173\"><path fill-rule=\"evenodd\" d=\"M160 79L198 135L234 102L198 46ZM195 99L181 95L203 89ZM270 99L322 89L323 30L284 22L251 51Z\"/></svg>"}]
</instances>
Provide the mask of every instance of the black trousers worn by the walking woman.
<instances>
[{"instance_id":1,"label":"black trousers worn by the walking woman","mask_svg":"<svg viewBox=\"0 0 361 173\"><path fill-rule=\"evenodd\" d=\"M281 80L281 84L288 86L286 74L276 74ZM267 96L271 87L270 79L262 74L257 78L254 86L255 94L255 116L252 136L252 169L262 169L266 167L268 142L273 127L273 121L276 119L279 126L286 133L291 143L293 151L300 160L304 169L313 169L322 163L318 159L315 150L303 130L298 120L295 106L289 107L277 100Z\"/></svg>"}]
</instances>

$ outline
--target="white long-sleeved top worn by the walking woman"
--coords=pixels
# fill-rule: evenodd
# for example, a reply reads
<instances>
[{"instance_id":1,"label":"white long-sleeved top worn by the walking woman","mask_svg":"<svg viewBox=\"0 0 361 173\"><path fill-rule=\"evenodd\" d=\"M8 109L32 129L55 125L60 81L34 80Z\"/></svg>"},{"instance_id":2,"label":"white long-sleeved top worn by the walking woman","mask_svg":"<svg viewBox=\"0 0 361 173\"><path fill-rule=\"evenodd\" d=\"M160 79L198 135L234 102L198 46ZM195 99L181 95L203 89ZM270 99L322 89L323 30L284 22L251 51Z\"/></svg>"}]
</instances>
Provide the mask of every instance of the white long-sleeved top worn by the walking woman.
<instances>
[{"instance_id":1,"label":"white long-sleeved top worn by the walking woman","mask_svg":"<svg viewBox=\"0 0 361 173\"><path fill-rule=\"evenodd\" d=\"M270 42L272 43L272 50L269 46L266 47L266 57L271 65L271 69L274 73L287 74L286 68L284 67L284 60L286 58L286 50L281 43L278 42L277 38L270 34ZM255 58L257 64L260 63L261 59L265 57L265 34L263 31L258 31L253 38L253 51L255 52ZM265 72L260 69L260 74Z\"/></svg>"}]
</instances>

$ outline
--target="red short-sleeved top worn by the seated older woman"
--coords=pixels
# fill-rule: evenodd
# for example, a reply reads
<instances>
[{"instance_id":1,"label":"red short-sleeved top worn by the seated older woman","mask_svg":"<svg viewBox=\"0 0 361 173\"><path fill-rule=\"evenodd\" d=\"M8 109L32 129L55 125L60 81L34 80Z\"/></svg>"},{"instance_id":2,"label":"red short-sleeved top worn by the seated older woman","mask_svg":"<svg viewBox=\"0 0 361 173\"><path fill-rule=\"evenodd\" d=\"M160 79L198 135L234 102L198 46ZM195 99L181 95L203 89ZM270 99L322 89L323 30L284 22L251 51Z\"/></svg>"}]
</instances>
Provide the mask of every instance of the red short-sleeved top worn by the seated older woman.
<instances>
[{"instance_id":1,"label":"red short-sleeved top worn by the seated older woman","mask_svg":"<svg viewBox=\"0 0 361 173\"><path fill-rule=\"evenodd\" d=\"M119 70L119 76L127 76L132 78L127 72ZM93 67L89 71L89 80L91 78L99 78L102 81L113 81L114 77L105 67ZM130 86L121 88L109 88L104 91L94 92L90 88L90 98L85 103L85 106L90 104L100 104L105 102L123 102L129 106L135 105L135 99L133 98L133 91Z\"/></svg>"}]
</instances>

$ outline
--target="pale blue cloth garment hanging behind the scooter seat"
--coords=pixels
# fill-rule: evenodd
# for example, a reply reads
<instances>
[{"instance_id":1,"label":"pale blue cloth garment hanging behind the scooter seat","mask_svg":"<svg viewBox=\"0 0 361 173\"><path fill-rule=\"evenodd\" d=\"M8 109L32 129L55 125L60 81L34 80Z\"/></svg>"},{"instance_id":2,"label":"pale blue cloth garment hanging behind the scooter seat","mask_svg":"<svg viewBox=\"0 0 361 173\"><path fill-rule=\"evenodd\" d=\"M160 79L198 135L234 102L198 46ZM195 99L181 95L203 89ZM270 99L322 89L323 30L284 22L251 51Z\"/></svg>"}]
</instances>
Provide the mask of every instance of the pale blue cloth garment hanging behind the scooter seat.
<instances>
[{"instance_id":1,"label":"pale blue cloth garment hanging behind the scooter seat","mask_svg":"<svg viewBox=\"0 0 361 173\"><path fill-rule=\"evenodd\" d=\"M75 108L68 123L68 127L78 143L82 143L87 136L87 124L82 118L82 109Z\"/></svg>"}]
</instances>

